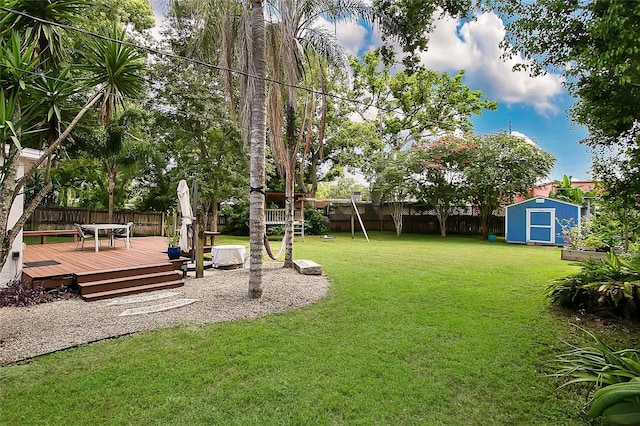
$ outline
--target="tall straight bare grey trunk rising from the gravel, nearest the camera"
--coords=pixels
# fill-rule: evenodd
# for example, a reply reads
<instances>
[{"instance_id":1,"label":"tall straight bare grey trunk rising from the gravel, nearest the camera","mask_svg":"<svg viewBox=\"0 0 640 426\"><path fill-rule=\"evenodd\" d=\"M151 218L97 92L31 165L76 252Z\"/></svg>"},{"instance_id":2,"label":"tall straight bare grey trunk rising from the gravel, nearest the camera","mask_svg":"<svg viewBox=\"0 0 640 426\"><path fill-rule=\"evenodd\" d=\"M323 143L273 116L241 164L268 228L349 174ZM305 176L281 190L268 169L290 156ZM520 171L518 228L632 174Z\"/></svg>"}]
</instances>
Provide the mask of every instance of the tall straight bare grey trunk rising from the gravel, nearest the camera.
<instances>
[{"instance_id":1,"label":"tall straight bare grey trunk rising from the gravel, nearest the camera","mask_svg":"<svg viewBox=\"0 0 640 426\"><path fill-rule=\"evenodd\" d=\"M261 0L251 0L251 58L249 60L249 79L251 117L249 124L251 141L251 170L249 182L249 297L257 299L262 296L262 247L264 229L264 190L265 190L265 138L266 138L266 103L265 103L265 25Z\"/></svg>"}]
</instances>

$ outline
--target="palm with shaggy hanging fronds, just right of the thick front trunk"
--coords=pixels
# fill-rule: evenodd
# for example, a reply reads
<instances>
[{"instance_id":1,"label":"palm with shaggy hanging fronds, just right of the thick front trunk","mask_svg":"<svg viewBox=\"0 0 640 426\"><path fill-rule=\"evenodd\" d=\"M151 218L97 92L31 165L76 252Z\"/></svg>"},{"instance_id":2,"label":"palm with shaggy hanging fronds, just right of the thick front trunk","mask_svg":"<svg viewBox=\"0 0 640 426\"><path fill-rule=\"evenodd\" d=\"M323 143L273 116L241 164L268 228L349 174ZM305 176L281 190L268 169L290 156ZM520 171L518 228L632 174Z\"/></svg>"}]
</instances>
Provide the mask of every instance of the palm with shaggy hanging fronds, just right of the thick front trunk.
<instances>
[{"instance_id":1,"label":"palm with shaggy hanging fronds, just right of the thick front trunk","mask_svg":"<svg viewBox=\"0 0 640 426\"><path fill-rule=\"evenodd\" d=\"M326 89L329 67L346 66L346 57L336 37L315 20L322 16L329 21L357 19L368 13L368 7L356 0L277 0L269 11L273 19L267 28L267 64L272 75L284 84L272 84L267 103L271 152L280 177L285 182L285 260L284 267L293 267L293 212L296 166L304 133L311 137L310 129L315 117L316 95L303 94L306 98L301 114L297 113L296 86L302 81L317 81L318 89ZM311 76L305 80L305 76ZM321 113L326 115L326 98L321 99ZM300 115L300 117L298 117ZM298 123L300 123L298 125ZM326 121L320 123L323 137Z\"/></svg>"}]
</instances>

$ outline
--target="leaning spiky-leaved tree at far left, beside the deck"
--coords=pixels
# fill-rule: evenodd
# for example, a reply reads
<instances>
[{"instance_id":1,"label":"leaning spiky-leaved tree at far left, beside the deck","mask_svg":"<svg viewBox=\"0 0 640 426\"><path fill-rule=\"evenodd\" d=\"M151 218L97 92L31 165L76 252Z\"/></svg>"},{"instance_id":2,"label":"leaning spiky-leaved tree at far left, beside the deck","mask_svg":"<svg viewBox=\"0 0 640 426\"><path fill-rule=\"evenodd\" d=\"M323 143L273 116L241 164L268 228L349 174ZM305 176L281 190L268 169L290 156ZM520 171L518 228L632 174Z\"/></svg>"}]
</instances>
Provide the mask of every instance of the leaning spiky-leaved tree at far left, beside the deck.
<instances>
[{"instance_id":1,"label":"leaning spiky-leaved tree at far left, beside the deck","mask_svg":"<svg viewBox=\"0 0 640 426\"><path fill-rule=\"evenodd\" d=\"M5 4L3 0L0 4ZM42 5L42 2L38 2L37 0L21 0L16 2L15 4L33 4L33 5ZM73 1L73 0L49 0L47 4L84 4L82 1ZM69 9L70 10L70 9ZM69 12L67 10L67 12ZM70 13L70 12L69 12ZM68 16L65 15L65 19ZM0 23L6 22L14 22L18 18L16 18L15 14L11 12L0 11ZM26 18L25 18L26 19ZM52 20L53 18L49 17L48 19ZM0 26L4 30L5 26ZM17 26L16 26L17 28ZM33 34L35 30L31 29L33 26L29 26L25 24L24 27L25 33ZM57 28L57 27L56 27ZM47 33L48 30L43 30L43 33ZM33 68L32 61L37 61L39 56L35 55L33 52L36 49L35 41L32 40L31 44L23 44L17 43L18 48L8 48L4 40L11 40L11 37L15 37L19 32L17 29L12 28L11 32L5 33L4 31L1 33L0 41L0 63L2 63L3 76L4 75L13 75L18 81L17 88L21 88L24 92L25 88L30 89L33 86L30 84L31 82L25 82L25 76L29 75L28 73L24 73L21 70L29 69L29 67ZM120 37L120 40L124 40L124 31L115 33L111 35L112 38ZM38 38L41 40L41 38ZM11 123L10 126L6 125L6 121L4 120L2 132L6 134L6 129L13 129L12 135L8 136L9 145L13 148L10 150L12 152L11 158L8 161L5 161L3 164L3 172L0 173L2 179L0 179L0 265L4 265L7 255L9 253L9 248L13 244L13 241L17 237L19 231L22 229L22 226L26 222L27 218L33 213L35 208L40 203L40 200L46 195L46 193L51 189L51 182L48 182L45 186L43 186L40 192L34 197L33 201L25 208L22 216L17 220L15 225L8 229L8 210L15 200L16 196L22 191L25 183L31 179L32 175L36 173L36 169L42 165L45 161L47 161L51 155L60 147L62 142L67 138L67 136L71 133L71 131L75 128L78 122L82 119L82 117L91 110L91 108L98 103L99 101L103 101L102 105L103 111L113 111L118 104L118 102L122 102L125 96L133 96L138 93L142 88L140 72L142 71L142 62L140 61L140 56L133 51L131 48L121 46L116 42L107 42L103 40L95 40L90 54L85 56L86 60L93 59L93 62L90 62L92 67L86 68L87 71L92 72L91 78L86 82L83 91L89 92L90 96L88 97L84 106L76 113L73 119L69 122L66 128L62 132L58 132L58 136L55 140L50 141L46 149L44 149L43 154L36 161L33 162L32 168L30 171L25 173L25 175L16 180L15 179L15 171L17 170L18 164L18 152L21 148L20 138L23 136L23 133L20 132L20 126L15 126ZM118 46L114 46L114 44L118 44ZM14 44L12 44L13 46ZM26 46L26 47L24 47ZM24 47L24 49L23 49ZM120 48L122 47L122 48ZM42 49L42 47L40 47ZM47 52L58 52L59 50L55 47L47 47ZM54 53L57 55L57 53ZM15 61L16 58L19 59L18 62ZM53 59L52 59L53 61ZM55 62L55 61L54 61ZM58 61L56 63L61 63ZM37 65L37 64L36 64ZM22 74L21 74L22 73ZM51 75L44 74L39 77L41 79L48 79ZM22 79L22 80L20 80ZM3 77L2 81L5 79ZM22 81L20 83L19 81ZM42 82L41 82L42 83ZM44 87L44 86L43 86ZM3 85L3 89L6 86ZM10 103L13 111L19 108L19 89L16 89L15 93L10 97L2 96L5 99L0 99L0 115L4 115L7 112L7 106ZM31 90L30 93L34 97L38 97L40 95L40 99L42 98L42 93L37 90ZM7 100L10 100L8 102ZM50 99L51 100L51 99ZM60 100L60 99L58 99ZM105 105L105 102L108 105ZM59 111L59 107L54 107L53 104L47 103L49 111L53 111L56 113L56 109ZM34 110L35 111L35 110ZM47 112L42 113L43 116L48 115ZM24 111L22 113L17 114L14 112L13 116L18 117L18 119L23 120ZM42 116L41 116L42 117ZM40 118L41 118L40 117ZM5 117L6 118L6 117ZM49 117L51 118L51 117ZM0 120L2 120L0 118ZM15 118L13 121L16 121ZM42 120L47 121L47 120ZM58 123L61 124L61 123ZM16 127L18 130L16 130ZM61 127L61 126L56 126ZM60 130L60 129L59 129ZM1 143L4 146L5 140L2 140Z\"/></svg>"}]
</instances>

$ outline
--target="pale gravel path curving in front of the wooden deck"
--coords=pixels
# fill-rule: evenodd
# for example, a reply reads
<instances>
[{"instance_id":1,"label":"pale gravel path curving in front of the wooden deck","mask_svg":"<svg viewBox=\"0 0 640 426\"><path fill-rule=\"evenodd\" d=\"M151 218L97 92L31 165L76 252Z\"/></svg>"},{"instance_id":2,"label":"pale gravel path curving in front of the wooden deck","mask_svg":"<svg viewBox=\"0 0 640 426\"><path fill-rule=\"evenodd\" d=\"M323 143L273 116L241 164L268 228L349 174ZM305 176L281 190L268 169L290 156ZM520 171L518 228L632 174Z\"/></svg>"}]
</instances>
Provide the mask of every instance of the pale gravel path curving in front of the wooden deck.
<instances>
[{"instance_id":1,"label":"pale gravel path curving in front of the wooden deck","mask_svg":"<svg viewBox=\"0 0 640 426\"><path fill-rule=\"evenodd\" d=\"M326 276L298 274L283 269L282 263L264 264L260 299L247 297L248 283L247 268L207 270L204 278L187 278L184 287L175 289L96 302L73 299L29 308L0 308L0 365L174 324L266 316L309 305L329 289ZM151 298L155 300L148 300ZM189 304L161 312L121 315L181 303Z\"/></svg>"}]
</instances>

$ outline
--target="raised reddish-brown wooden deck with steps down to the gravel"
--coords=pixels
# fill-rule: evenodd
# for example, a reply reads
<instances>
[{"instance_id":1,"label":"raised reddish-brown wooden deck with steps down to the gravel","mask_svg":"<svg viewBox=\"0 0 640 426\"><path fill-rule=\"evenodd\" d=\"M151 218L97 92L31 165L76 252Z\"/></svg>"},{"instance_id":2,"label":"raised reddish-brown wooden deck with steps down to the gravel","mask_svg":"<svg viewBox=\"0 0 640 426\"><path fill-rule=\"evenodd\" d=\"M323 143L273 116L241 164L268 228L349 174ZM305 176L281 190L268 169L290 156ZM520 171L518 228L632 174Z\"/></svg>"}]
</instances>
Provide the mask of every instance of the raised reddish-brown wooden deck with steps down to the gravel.
<instances>
[{"instance_id":1,"label":"raised reddish-brown wooden deck with steps down to the gravel","mask_svg":"<svg viewBox=\"0 0 640 426\"><path fill-rule=\"evenodd\" d=\"M93 298L113 297L121 294L136 292L129 288L118 292L114 289L113 281L123 281L122 277L140 279L142 275L150 278L154 272L180 269L183 261L169 261L167 257L167 243L162 237L139 237L131 239L132 247L127 249L122 241L116 241L114 247L109 246L107 240L101 240L100 251L94 251L93 241L87 241L84 250L76 250L76 243L55 243L27 245L23 254L22 279L44 287L59 285L79 285L80 294L89 300ZM151 274L151 275L150 275ZM169 275L172 275L169 273ZM88 283L88 276L95 276L95 281L103 285L111 282L108 287L110 293L102 294L100 289L86 290L85 293L96 293L95 296L85 297L82 286ZM79 278L80 277L80 278ZM176 284L175 274L168 281ZM144 285L140 284L140 291L154 290L149 286L149 279ZM161 288L159 278L158 288ZM135 287L134 284L122 284L124 287ZM144 288L142 288L144 287ZM107 290L105 287L104 290Z\"/></svg>"}]
</instances>

